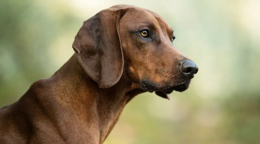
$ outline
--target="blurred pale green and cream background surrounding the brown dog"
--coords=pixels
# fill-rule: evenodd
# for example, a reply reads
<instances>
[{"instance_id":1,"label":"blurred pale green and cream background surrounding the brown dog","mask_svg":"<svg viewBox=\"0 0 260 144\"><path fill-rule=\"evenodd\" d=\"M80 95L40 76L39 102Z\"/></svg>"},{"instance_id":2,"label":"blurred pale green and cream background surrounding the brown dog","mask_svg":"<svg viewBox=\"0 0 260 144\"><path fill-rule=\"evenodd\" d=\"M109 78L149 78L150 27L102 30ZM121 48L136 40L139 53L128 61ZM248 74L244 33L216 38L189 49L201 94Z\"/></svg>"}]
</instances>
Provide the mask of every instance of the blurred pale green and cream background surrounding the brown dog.
<instances>
[{"instance_id":1,"label":"blurred pale green and cream background surrounding the brown dog","mask_svg":"<svg viewBox=\"0 0 260 144\"><path fill-rule=\"evenodd\" d=\"M82 22L116 4L163 16L199 72L170 101L135 97L105 144L260 143L259 0L1 0L0 107L59 69Z\"/></svg>"}]
</instances>

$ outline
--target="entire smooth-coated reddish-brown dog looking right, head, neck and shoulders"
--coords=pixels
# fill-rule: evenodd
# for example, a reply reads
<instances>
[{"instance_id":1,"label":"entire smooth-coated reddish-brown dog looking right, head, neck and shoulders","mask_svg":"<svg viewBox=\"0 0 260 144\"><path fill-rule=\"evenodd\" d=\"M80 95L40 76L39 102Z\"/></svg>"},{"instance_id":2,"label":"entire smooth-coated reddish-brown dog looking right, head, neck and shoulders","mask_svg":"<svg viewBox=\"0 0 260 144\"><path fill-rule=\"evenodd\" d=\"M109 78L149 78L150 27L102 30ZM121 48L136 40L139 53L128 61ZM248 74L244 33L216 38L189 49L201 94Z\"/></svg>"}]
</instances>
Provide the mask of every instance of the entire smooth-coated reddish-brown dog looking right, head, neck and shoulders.
<instances>
[{"instance_id":1,"label":"entire smooth-coated reddish-brown dog looking right, head, neck and shoulders","mask_svg":"<svg viewBox=\"0 0 260 144\"><path fill-rule=\"evenodd\" d=\"M101 144L136 95L169 98L197 73L158 14L115 5L83 23L75 54L0 111L1 144Z\"/></svg>"}]
</instances>

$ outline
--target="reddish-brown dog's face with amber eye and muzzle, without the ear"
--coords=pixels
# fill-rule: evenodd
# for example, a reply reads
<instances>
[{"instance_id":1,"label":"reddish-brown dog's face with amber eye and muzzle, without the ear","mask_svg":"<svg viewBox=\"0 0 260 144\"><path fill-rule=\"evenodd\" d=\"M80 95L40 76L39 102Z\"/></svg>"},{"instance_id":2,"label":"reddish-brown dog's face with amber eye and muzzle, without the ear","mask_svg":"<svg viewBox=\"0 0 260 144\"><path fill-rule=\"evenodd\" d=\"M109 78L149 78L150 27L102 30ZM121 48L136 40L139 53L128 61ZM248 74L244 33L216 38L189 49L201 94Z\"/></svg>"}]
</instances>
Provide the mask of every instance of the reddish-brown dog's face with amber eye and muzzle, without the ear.
<instances>
[{"instance_id":1,"label":"reddish-brown dog's face with amber eye and muzzle, without the ear","mask_svg":"<svg viewBox=\"0 0 260 144\"><path fill-rule=\"evenodd\" d=\"M173 30L154 12L132 8L120 20L127 73L148 91L187 90L198 67L174 48Z\"/></svg>"}]
</instances>

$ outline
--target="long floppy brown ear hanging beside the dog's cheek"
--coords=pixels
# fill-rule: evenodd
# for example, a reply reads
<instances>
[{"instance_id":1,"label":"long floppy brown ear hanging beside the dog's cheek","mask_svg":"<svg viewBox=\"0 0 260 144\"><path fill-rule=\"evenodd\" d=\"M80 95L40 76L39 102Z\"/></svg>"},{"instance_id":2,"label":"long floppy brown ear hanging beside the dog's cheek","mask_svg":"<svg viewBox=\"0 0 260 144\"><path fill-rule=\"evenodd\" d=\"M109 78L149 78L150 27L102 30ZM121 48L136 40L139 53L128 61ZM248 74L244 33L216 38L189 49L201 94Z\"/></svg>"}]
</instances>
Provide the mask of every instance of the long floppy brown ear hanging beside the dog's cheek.
<instances>
[{"instance_id":1,"label":"long floppy brown ear hanging beside the dog's cheek","mask_svg":"<svg viewBox=\"0 0 260 144\"><path fill-rule=\"evenodd\" d=\"M114 86L122 76L119 21L125 9L102 10L83 22L73 42L79 63L99 88Z\"/></svg>"}]
</instances>

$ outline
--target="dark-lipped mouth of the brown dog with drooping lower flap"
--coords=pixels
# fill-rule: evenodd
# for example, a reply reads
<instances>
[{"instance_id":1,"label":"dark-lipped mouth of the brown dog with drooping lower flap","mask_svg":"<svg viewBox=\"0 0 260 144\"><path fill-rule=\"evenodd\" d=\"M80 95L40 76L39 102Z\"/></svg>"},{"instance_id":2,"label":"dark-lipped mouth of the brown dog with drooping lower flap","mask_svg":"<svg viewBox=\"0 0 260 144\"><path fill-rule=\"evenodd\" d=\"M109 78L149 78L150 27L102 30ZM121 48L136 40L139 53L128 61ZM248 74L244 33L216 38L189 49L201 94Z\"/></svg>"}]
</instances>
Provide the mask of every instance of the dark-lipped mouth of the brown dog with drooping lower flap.
<instances>
[{"instance_id":1,"label":"dark-lipped mouth of the brown dog with drooping lower flap","mask_svg":"<svg viewBox=\"0 0 260 144\"><path fill-rule=\"evenodd\" d=\"M166 98L166 99L170 99L169 94L171 94L173 91L184 92L185 90L187 90L189 88L189 86L190 86L190 80L186 80L185 82L177 84L172 87L164 87L164 88L155 87L152 84L150 84L149 82L141 83L141 87L144 90L146 90L148 92L155 92L156 95L158 95L162 98Z\"/></svg>"}]
</instances>

